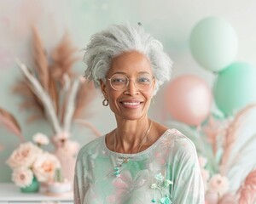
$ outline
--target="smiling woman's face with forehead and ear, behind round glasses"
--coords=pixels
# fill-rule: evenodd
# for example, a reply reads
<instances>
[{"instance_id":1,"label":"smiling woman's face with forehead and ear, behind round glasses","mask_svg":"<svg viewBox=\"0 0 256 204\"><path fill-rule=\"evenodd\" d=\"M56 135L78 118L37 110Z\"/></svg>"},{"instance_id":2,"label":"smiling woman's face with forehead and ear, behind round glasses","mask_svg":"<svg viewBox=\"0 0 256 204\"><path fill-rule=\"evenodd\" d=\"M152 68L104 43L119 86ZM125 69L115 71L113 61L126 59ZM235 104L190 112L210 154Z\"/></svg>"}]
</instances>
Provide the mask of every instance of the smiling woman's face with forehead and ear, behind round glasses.
<instances>
[{"instance_id":1,"label":"smiling woman's face with forehead and ear, behind round glasses","mask_svg":"<svg viewBox=\"0 0 256 204\"><path fill-rule=\"evenodd\" d=\"M116 74L121 74L118 75ZM113 77L114 75L114 77ZM119 77L121 76L121 77ZM119 88L119 82L123 82L124 77L128 78L128 85ZM117 85L115 90L110 84ZM143 85L148 79L150 85ZM102 94L108 99L110 109L119 119L137 120L147 116L150 100L154 93L155 81L150 62L145 55L137 51L127 52L114 58L107 74L106 84L101 82ZM146 86L145 88L143 86ZM148 87L147 87L148 86ZM143 90L142 90L143 89Z\"/></svg>"}]
</instances>

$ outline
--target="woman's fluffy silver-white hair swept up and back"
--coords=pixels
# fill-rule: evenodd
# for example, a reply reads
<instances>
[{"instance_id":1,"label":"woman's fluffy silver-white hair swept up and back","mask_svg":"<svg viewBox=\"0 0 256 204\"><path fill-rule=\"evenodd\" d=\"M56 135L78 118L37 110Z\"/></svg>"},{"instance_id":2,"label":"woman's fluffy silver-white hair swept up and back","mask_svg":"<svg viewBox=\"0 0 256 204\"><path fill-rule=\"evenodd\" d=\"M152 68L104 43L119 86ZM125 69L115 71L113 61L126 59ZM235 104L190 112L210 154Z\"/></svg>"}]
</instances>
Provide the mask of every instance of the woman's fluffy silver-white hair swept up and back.
<instances>
[{"instance_id":1,"label":"woman's fluffy silver-white hair swept up and back","mask_svg":"<svg viewBox=\"0 0 256 204\"><path fill-rule=\"evenodd\" d=\"M156 82L156 94L160 85L171 78L172 59L164 52L161 42L145 32L140 23L135 26L112 25L94 34L85 48L84 62L87 69L84 71L84 77L93 81L96 88L99 88L100 80L106 82L112 59L131 51L148 57Z\"/></svg>"}]
</instances>

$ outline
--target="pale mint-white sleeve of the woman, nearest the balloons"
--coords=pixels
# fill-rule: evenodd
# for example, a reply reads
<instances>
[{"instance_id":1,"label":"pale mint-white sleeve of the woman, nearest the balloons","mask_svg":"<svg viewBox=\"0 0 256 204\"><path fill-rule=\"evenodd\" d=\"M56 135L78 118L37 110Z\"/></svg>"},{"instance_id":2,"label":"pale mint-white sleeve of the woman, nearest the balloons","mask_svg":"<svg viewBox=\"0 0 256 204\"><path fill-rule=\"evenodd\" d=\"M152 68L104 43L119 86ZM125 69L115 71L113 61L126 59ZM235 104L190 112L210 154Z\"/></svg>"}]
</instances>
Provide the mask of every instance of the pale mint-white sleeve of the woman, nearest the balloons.
<instances>
[{"instance_id":1,"label":"pale mint-white sleeve of the woman, nearest the balloons","mask_svg":"<svg viewBox=\"0 0 256 204\"><path fill-rule=\"evenodd\" d=\"M170 164L172 203L204 204L204 184L195 145L181 136L175 146Z\"/></svg>"}]
</instances>

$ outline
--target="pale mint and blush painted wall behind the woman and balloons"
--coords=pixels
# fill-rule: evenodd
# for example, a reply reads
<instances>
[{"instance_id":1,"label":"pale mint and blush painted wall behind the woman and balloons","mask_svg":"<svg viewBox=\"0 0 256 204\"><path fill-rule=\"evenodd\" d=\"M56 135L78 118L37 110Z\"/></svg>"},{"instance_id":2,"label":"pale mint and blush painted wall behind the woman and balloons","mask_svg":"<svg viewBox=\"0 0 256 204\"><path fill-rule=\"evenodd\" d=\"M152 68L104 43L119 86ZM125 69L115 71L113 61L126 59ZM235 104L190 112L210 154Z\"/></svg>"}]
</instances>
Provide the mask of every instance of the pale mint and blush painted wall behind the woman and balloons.
<instances>
[{"instance_id":1,"label":"pale mint and blush painted wall behind the woman and balloons","mask_svg":"<svg viewBox=\"0 0 256 204\"><path fill-rule=\"evenodd\" d=\"M26 123L29 113L20 111L20 98L11 92L12 86L21 76L14 59L19 57L32 65L32 26L38 27L44 46L50 52L65 31L69 32L76 47L82 49L93 33L101 31L109 24L141 22L147 31L163 42L166 52L171 55L174 61L173 77L192 73L204 78L211 87L214 75L202 69L189 52L191 29L198 20L209 15L223 17L234 27L239 38L236 60L256 65L255 9L256 2L253 0L2 0L0 107L16 116L27 139L31 139L32 134L37 132L50 134L46 122ZM74 69L83 74L83 63L77 63ZM159 122L165 122L168 118L162 108L162 96L163 91L160 91L150 109L150 115ZM111 111L102 106L100 94L88 108L91 115L87 120L101 133L106 133L115 126ZM84 127L74 127L73 137L81 144L93 139L90 131ZM11 179L11 171L5 160L19 144L19 140L0 126L0 144L4 145L0 152L0 182L7 182Z\"/></svg>"}]
</instances>

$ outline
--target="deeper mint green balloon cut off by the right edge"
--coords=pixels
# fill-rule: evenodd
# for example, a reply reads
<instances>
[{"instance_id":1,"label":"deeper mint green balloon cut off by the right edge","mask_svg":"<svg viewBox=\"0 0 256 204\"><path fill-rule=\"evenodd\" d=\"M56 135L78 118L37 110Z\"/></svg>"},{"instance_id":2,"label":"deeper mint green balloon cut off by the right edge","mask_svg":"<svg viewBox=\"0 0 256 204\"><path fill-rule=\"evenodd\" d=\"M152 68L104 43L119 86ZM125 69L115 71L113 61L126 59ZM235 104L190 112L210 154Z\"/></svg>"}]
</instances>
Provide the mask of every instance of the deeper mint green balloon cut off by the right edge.
<instances>
[{"instance_id":1,"label":"deeper mint green balloon cut off by the right edge","mask_svg":"<svg viewBox=\"0 0 256 204\"><path fill-rule=\"evenodd\" d=\"M246 105L256 103L256 68L236 62L218 73L213 95L220 111L231 116Z\"/></svg>"}]
</instances>

